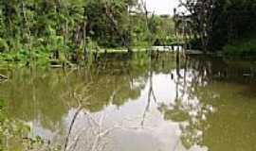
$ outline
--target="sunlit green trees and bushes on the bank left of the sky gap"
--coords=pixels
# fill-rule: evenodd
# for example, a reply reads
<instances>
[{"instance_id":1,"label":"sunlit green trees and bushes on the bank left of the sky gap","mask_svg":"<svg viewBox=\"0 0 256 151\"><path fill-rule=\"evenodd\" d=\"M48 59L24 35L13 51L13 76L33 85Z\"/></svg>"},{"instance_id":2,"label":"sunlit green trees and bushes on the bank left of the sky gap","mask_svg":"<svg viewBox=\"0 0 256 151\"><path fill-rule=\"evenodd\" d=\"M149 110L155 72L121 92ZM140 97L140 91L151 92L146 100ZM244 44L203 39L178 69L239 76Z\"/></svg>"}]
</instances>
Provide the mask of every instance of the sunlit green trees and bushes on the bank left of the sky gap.
<instances>
[{"instance_id":1,"label":"sunlit green trees and bushes on the bank left of the sky gap","mask_svg":"<svg viewBox=\"0 0 256 151\"><path fill-rule=\"evenodd\" d=\"M2 62L77 63L109 49L146 48L172 33L172 18L150 16L137 0L0 0Z\"/></svg>"}]
</instances>

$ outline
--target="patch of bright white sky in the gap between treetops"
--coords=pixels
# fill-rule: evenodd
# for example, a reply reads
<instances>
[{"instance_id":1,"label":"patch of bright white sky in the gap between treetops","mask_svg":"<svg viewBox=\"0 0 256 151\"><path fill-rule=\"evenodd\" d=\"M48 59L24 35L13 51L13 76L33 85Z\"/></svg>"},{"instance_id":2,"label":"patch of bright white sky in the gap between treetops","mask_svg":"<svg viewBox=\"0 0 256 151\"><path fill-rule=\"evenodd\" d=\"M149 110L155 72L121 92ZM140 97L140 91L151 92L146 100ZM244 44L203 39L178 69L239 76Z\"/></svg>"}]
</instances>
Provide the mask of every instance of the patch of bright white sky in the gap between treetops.
<instances>
[{"instance_id":1,"label":"patch of bright white sky in the gap between treetops","mask_svg":"<svg viewBox=\"0 0 256 151\"><path fill-rule=\"evenodd\" d=\"M173 14L178 6L178 0L145 0L147 8L156 14Z\"/></svg>"}]
</instances>

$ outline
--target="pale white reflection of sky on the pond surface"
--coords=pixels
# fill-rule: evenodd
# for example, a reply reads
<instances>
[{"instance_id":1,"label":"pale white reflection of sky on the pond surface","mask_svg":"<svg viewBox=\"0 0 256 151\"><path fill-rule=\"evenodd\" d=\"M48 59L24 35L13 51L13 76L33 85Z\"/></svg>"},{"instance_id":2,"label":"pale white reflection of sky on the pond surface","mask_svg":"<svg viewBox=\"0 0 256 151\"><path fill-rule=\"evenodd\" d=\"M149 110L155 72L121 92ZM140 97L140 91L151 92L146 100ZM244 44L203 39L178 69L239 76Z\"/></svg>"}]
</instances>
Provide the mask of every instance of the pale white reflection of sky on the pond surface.
<instances>
[{"instance_id":1,"label":"pale white reflection of sky on the pond surface","mask_svg":"<svg viewBox=\"0 0 256 151\"><path fill-rule=\"evenodd\" d=\"M139 85L137 82L135 85ZM103 118L102 129L118 126L111 131L108 137L108 150L111 151L169 151L171 150L187 150L180 140L181 130L180 124L171 121L165 121L162 113L158 109L159 104L174 104L175 100L175 83L170 75L158 74L153 76L153 89L157 102L151 99L150 108L146 110L144 125L141 126L143 114L148 105L148 90L150 84L147 83L144 90L136 100L128 100L123 106L117 107L110 105L100 112L93 113L92 116L96 121ZM185 95L186 96L186 95ZM193 102L194 101L194 102ZM192 100L194 105L198 106L199 101ZM69 110L64 119L64 126L69 126L75 114L76 109ZM72 130L74 138L77 134L84 132L84 127L89 126L86 120L87 115L80 113L74 129ZM186 124L186 123L184 123ZM37 125L40 126L40 125ZM67 128L67 127L66 127ZM36 127L35 131L41 136L50 136L52 138L55 133L50 133L41 127ZM85 132L84 132L85 133ZM43 134L43 135L42 135ZM88 136L87 136L88 137ZM47 137L48 138L48 137ZM71 138L74 139L74 138ZM91 136L93 140L94 136ZM78 145L77 150L84 149L83 138ZM207 150L204 147L193 145L189 150Z\"/></svg>"}]
</instances>

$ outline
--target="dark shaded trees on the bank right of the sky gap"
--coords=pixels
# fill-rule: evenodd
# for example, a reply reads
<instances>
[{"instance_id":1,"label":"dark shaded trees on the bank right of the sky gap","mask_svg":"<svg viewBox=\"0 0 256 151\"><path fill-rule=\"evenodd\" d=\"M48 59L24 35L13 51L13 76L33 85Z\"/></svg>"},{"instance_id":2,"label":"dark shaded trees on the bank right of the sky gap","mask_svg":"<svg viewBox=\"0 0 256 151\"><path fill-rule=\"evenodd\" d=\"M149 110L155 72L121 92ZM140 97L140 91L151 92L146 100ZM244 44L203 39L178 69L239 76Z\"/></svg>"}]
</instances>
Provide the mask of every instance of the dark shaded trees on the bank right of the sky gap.
<instances>
[{"instance_id":1,"label":"dark shaded trees on the bank right of the sky gap","mask_svg":"<svg viewBox=\"0 0 256 151\"><path fill-rule=\"evenodd\" d=\"M190 12L189 28L205 51L226 55L255 55L256 5L254 0L180 0ZM249 36L245 36L249 35Z\"/></svg>"}]
</instances>

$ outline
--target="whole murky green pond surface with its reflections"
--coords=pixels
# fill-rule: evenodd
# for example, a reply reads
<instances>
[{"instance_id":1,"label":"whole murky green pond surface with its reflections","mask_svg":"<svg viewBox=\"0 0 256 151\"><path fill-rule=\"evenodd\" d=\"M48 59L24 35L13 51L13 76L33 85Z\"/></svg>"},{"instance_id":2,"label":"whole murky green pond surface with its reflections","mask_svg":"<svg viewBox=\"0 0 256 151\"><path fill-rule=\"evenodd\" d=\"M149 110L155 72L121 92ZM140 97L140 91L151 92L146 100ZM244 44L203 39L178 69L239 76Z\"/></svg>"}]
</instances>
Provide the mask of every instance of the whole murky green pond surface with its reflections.
<instances>
[{"instance_id":1,"label":"whole murky green pond surface with its reflections","mask_svg":"<svg viewBox=\"0 0 256 151\"><path fill-rule=\"evenodd\" d=\"M81 104L70 150L256 150L254 62L137 58L115 55L67 72L2 70L10 79L0 97L32 136L58 144Z\"/></svg>"}]
</instances>

